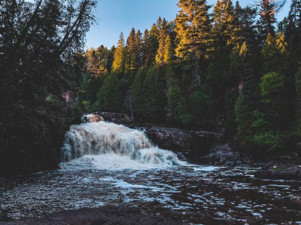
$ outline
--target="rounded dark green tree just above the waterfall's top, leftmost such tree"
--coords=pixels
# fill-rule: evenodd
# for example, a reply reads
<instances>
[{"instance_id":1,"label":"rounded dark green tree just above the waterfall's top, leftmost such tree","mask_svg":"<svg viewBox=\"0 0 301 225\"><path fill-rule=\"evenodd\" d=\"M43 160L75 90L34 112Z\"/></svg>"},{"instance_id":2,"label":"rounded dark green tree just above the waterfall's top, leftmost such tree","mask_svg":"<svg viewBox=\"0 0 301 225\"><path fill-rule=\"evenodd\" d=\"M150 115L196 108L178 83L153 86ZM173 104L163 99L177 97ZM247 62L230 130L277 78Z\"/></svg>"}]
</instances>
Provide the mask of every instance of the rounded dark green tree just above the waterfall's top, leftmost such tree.
<instances>
[{"instance_id":1,"label":"rounded dark green tree just above the waterfall's top, leftmost such tree","mask_svg":"<svg viewBox=\"0 0 301 225\"><path fill-rule=\"evenodd\" d=\"M108 112L120 112L122 108L122 92L120 81L115 74L109 75L97 94L97 106L99 110Z\"/></svg>"}]
</instances>

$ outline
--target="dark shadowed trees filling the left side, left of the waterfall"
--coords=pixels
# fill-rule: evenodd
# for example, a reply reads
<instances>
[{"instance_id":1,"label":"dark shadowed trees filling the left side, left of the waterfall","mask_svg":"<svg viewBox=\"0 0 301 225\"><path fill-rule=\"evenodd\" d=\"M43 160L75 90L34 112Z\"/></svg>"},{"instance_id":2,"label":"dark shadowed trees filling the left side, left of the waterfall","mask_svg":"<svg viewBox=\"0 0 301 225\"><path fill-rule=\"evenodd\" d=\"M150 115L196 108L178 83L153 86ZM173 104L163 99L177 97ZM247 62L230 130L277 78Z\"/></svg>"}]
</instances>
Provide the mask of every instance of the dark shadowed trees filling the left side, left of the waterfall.
<instances>
[{"instance_id":1,"label":"dark shadowed trees filling the left side, left of the waterfall","mask_svg":"<svg viewBox=\"0 0 301 225\"><path fill-rule=\"evenodd\" d=\"M0 174L55 168L94 0L0 1ZM69 117L70 116L70 117Z\"/></svg>"}]
</instances>

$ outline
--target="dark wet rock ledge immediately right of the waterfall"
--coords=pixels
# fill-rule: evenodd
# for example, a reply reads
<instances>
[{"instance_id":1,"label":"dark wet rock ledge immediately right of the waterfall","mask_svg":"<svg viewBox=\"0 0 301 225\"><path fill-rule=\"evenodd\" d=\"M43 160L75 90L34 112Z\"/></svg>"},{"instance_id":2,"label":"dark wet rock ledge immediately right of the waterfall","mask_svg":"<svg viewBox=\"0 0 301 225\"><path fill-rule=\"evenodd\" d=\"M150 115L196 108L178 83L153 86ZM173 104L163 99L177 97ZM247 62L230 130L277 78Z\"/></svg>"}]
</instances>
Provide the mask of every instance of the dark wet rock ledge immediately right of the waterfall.
<instances>
[{"instance_id":1,"label":"dark wet rock ledge immediately right of the waterfall","mask_svg":"<svg viewBox=\"0 0 301 225\"><path fill-rule=\"evenodd\" d=\"M226 144L224 134L208 131L187 131L160 126L140 127L151 141L162 149L176 152L192 163L235 166L244 164L240 152Z\"/></svg>"}]
</instances>

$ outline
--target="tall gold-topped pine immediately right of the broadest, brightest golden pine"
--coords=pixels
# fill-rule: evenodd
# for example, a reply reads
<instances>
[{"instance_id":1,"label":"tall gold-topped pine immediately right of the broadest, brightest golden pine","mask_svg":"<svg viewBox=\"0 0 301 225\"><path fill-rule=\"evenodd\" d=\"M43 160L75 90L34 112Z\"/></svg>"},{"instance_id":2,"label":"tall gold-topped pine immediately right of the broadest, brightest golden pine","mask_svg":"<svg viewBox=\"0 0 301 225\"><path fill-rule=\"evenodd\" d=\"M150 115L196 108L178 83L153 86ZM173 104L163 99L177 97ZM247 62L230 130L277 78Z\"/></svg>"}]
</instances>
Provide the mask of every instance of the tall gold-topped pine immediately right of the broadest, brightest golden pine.
<instances>
[{"instance_id":1,"label":"tall gold-topped pine immediately right of the broadest, brightest golden pine","mask_svg":"<svg viewBox=\"0 0 301 225\"><path fill-rule=\"evenodd\" d=\"M233 48L241 42L238 36L239 26L234 20L234 7L231 0L217 0L213 8L212 16L213 47L210 54L207 82L212 87L215 107L224 110L231 89L235 89L236 83L231 83L230 58ZM228 93L226 95L226 93ZM230 102L230 100L228 100Z\"/></svg>"}]
</instances>

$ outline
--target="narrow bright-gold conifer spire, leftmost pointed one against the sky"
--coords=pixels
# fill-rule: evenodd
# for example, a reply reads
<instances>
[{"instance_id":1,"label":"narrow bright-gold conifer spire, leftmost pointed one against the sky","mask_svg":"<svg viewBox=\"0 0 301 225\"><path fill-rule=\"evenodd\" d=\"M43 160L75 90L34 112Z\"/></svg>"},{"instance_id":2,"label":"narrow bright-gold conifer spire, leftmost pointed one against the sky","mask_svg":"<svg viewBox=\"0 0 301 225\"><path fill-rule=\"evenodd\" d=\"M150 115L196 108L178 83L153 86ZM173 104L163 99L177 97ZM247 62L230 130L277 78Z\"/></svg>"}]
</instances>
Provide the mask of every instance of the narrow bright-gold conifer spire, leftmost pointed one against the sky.
<instances>
[{"instance_id":1,"label":"narrow bright-gold conifer spire, leftmost pointed one against the sky","mask_svg":"<svg viewBox=\"0 0 301 225\"><path fill-rule=\"evenodd\" d=\"M124 38L123 33L120 33L120 38L118 41L117 48L114 53L114 61L112 66L112 71L116 73L123 73L125 70L125 48L124 48Z\"/></svg>"}]
</instances>

